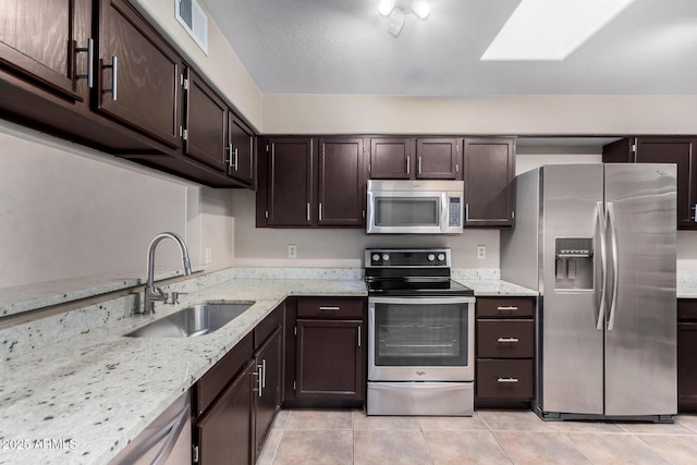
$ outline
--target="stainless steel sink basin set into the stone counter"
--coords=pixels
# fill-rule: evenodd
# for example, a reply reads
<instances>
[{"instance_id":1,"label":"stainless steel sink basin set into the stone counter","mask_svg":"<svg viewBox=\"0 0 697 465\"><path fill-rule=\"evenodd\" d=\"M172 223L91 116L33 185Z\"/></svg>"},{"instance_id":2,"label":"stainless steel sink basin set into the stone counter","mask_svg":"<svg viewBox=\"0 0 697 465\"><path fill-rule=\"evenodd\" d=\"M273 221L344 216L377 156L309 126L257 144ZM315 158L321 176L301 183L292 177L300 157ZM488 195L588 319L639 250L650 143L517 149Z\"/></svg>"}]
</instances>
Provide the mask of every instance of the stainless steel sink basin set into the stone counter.
<instances>
[{"instance_id":1,"label":"stainless steel sink basin set into the stone counter","mask_svg":"<svg viewBox=\"0 0 697 465\"><path fill-rule=\"evenodd\" d=\"M183 308L125 334L131 338L194 338L219 330L254 302L199 304Z\"/></svg>"}]
</instances>

